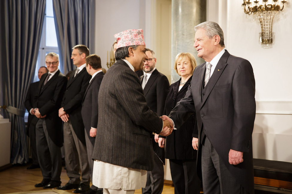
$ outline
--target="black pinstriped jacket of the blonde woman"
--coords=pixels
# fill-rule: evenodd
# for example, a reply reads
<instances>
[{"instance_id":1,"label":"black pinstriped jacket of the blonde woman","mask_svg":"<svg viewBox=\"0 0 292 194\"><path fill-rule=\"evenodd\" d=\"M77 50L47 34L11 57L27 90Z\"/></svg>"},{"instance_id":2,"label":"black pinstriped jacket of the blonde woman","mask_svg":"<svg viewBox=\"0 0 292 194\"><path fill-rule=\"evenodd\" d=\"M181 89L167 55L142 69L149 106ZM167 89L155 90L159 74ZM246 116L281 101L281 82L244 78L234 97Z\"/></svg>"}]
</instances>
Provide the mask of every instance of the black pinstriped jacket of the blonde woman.
<instances>
[{"instance_id":1,"label":"black pinstriped jacket of the blonde woman","mask_svg":"<svg viewBox=\"0 0 292 194\"><path fill-rule=\"evenodd\" d=\"M187 80L187 83L179 91L178 87L181 79L170 85L165 102L164 115L168 115L177 102L184 98L191 80L192 77ZM192 114L181 127L173 130L173 133L166 137L165 157L168 159L195 160L197 158L197 150L194 150L192 146L193 137L198 138L196 113Z\"/></svg>"}]
</instances>

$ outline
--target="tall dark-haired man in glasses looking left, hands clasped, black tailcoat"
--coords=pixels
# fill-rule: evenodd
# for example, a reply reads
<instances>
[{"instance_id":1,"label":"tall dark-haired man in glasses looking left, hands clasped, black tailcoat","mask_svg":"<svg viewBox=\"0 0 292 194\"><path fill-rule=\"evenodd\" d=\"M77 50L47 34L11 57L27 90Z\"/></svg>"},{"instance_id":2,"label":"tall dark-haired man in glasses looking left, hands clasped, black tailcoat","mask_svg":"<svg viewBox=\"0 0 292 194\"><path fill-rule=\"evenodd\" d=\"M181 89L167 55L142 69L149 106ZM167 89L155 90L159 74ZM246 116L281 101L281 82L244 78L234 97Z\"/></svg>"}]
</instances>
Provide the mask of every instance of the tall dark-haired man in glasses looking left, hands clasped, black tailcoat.
<instances>
[{"instance_id":1,"label":"tall dark-haired man in glasses looking left, hands clasped, black tailcoat","mask_svg":"<svg viewBox=\"0 0 292 194\"><path fill-rule=\"evenodd\" d=\"M89 56L89 49L82 44L72 49L71 59L77 68L69 77L59 109L59 117L63 121L65 167L69 181L57 189L76 189L73 193L83 193L90 187L90 169L81 116L81 102L91 78L86 71L85 61ZM81 180L79 170L81 170Z\"/></svg>"}]
</instances>

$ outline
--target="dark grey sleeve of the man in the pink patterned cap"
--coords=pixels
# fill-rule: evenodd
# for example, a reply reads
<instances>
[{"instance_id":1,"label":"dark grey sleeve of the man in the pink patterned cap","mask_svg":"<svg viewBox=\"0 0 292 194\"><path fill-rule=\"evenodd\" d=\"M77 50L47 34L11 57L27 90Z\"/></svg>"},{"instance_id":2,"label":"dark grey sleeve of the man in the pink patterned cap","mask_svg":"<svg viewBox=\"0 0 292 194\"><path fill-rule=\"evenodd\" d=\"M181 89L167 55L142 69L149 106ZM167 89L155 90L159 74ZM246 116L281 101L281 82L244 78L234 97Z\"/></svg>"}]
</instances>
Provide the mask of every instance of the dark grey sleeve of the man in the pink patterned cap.
<instances>
[{"instance_id":1,"label":"dark grey sleeve of the man in the pink patterned cap","mask_svg":"<svg viewBox=\"0 0 292 194\"><path fill-rule=\"evenodd\" d=\"M131 71L123 70L117 76L117 99L135 124L159 134L163 127L162 119L147 106L141 82Z\"/></svg>"}]
</instances>

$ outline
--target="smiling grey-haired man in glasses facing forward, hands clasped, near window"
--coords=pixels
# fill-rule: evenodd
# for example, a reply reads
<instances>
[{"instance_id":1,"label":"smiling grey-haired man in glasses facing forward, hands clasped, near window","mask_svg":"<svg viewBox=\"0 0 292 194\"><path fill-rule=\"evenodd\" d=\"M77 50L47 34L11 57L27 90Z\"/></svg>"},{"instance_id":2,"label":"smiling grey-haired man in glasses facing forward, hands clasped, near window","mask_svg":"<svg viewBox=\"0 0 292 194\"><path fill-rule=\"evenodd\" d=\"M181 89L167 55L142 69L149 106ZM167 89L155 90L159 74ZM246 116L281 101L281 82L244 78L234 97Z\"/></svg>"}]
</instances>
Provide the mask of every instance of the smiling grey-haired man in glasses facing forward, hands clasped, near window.
<instances>
[{"instance_id":1,"label":"smiling grey-haired man in glasses facing forward, hands clasped, near window","mask_svg":"<svg viewBox=\"0 0 292 194\"><path fill-rule=\"evenodd\" d=\"M56 53L46 56L49 73L44 73L35 96L34 112L36 122L37 157L42 171L42 182L35 187L44 189L61 184L62 120L58 116L67 78L58 69L59 57Z\"/></svg>"}]
</instances>

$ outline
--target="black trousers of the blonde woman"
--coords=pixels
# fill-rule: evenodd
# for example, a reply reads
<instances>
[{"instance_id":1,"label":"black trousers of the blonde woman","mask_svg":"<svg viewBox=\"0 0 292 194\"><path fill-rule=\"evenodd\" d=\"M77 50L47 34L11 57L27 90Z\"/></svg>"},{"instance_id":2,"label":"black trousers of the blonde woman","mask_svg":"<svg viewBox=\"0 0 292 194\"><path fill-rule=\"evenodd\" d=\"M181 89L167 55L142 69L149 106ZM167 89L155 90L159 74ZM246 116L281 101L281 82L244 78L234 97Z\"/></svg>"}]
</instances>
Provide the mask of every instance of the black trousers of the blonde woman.
<instances>
[{"instance_id":1,"label":"black trousers of the blonde woman","mask_svg":"<svg viewBox=\"0 0 292 194\"><path fill-rule=\"evenodd\" d=\"M175 194L200 193L201 181L196 172L196 160L170 159L169 164Z\"/></svg>"}]
</instances>

